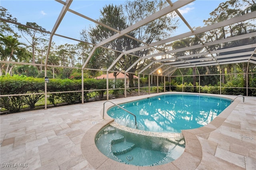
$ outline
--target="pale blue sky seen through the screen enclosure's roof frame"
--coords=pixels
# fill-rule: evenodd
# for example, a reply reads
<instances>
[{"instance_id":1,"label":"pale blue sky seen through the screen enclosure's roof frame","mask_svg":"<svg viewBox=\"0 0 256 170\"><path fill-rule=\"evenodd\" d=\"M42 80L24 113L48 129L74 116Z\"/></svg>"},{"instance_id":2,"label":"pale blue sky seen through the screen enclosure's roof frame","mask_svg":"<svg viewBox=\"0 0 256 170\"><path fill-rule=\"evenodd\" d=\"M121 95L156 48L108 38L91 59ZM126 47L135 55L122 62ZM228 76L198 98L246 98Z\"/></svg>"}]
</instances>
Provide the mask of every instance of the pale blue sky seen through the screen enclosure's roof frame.
<instances>
[{"instance_id":1,"label":"pale blue sky seen through the screen enclosure's roof frame","mask_svg":"<svg viewBox=\"0 0 256 170\"><path fill-rule=\"evenodd\" d=\"M119 5L125 2L125 0L73 0L70 9L97 20L100 17L100 10L106 4ZM210 12L217 8L221 2L225 2L225 0L196 0L179 11L192 28L203 27L203 20L207 20L210 17ZM12 17L17 18L19 23L26 25L26 22L35 22L50 32L63 7L62 4L54 0L0 0L0 5L6 8ZM95 24L67 12L56 34L79 40L81 30L88 29L90 26L95 26ZM189 31L184 23L180 21L179 29L172 36ZM57 36L54 36L53 42L56 42L56 45L77 43Z\"/></svg>"}]
</instances>

